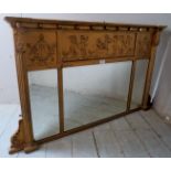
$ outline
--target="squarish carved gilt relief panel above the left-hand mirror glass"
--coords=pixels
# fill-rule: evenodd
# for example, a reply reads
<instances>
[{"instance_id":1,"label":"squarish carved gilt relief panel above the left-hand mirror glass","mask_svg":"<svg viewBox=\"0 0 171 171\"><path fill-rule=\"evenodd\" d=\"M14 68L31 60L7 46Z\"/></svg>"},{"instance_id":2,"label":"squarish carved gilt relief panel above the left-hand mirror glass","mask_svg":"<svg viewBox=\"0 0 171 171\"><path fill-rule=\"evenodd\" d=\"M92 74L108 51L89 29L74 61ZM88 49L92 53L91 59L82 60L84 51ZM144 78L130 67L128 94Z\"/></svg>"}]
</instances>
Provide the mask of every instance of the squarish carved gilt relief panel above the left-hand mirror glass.
<instances>
[{"instance_id":1,"label":"squarish carved gilt relief panel above the left-hand mirror glass","mask_svg":"<svg viewBox=\"0 0 171 171\"><path fill-rule=\"evenodd\" d=\"M32 32L30 34L20 33L17 42L17 52L23 53L23 60L29 70L34 70L36 66L55 66L55 34L45 32Z\"/></svg>"}]
</instances>

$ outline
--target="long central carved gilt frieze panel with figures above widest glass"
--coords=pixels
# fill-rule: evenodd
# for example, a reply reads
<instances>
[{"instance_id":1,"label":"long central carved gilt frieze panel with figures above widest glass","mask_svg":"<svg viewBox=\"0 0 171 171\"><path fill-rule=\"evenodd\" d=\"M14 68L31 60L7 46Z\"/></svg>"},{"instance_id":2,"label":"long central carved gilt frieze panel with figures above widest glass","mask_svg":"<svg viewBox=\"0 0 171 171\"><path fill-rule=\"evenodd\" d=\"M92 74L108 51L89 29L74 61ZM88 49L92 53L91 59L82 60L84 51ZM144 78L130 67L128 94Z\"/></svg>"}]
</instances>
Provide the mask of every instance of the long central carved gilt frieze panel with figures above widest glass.
<instances>
[{"instance_id":1,"label":"long central carved gilt frieze panel with figures above widest glass","mask_svg":"<svg viewBox=\"0 0 171 171\"><path fill-rule=\"evenodd\" d=\"M60 34L60 42L65 45L61 47L61 55L64 61L115 57L120 55L133 55L133 33L72 33ZM86 56L85 56L86 55Z\"/></svg>"}]
</instances>

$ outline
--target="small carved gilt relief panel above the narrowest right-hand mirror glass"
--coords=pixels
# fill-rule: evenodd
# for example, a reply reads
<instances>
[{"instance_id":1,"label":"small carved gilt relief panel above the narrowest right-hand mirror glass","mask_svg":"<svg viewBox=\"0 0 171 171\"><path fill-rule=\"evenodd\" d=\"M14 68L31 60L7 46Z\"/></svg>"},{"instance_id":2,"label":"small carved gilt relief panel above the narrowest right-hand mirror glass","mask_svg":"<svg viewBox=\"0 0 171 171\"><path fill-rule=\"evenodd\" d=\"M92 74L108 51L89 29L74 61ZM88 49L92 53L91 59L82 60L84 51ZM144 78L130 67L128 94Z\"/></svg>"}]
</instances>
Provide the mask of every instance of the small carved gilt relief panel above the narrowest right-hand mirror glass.
<instances>
[{"instance_id":1,"label":"small carved gilt relief panel above the narrowest right-hand mirror glass","mask_svg":"<svg viewBox=\"0 0 171 171\"><path fill-rule=\"evenodd\" d=\"M150 55L151 34L139 34L137 38L136 54L139 56Z\"/></svg>"}]
</instances>

